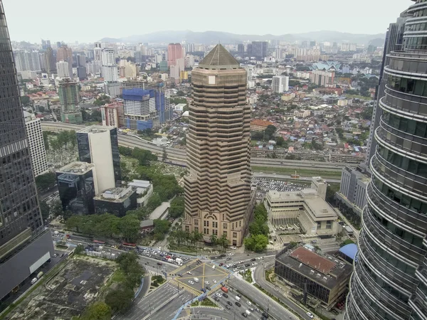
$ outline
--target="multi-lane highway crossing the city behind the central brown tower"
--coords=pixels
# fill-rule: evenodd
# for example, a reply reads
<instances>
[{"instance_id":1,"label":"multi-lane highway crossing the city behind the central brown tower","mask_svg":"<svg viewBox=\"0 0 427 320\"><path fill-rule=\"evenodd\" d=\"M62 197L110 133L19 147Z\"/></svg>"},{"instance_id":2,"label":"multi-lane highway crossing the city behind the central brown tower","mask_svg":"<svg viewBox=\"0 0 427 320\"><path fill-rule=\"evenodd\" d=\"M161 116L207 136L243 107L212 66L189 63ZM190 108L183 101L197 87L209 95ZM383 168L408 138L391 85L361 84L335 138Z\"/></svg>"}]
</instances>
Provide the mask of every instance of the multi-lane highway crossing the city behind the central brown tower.
<instances>
[{"instance_id":1,"label":"multi-lane highway crossing the city behind the central brown tower","mask_svg":"<svg viewBox=\"0 0 427 320\"><path fill-rule=\"evenodd\" d=\"M42 129L45 131L58 132L63 130L75 130L78 131L83 129L85 126L81 124L67 124L63 122L41 122ZM183 149L176 149L170 146L163 147L158 146L152 142L141 139L134 135L120 134L119 144L122 146L138 147L152 151L154 154L163 154L166 149L167 156L172 161L186 161L186 151ZM292 167L302 169L322 169L322 171L338 171L342 169L346 164L339 162L322 162L322 161L300 161L300 160L287 160L287 159L265 159L265 158L253 158L251 159L252 166L268 166L273 168L279 167Z\"/></svg>"}]
</instances>

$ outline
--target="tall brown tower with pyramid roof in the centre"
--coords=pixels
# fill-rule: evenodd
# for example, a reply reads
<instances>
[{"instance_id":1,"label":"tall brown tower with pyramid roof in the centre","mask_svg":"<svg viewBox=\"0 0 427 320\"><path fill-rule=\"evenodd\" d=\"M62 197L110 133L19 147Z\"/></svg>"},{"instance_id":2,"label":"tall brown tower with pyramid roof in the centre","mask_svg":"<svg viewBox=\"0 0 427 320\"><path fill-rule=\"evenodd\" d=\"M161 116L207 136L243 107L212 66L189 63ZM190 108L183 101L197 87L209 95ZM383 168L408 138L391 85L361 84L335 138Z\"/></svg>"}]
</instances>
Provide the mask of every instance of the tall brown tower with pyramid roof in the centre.
<instances>
[{"instance_id":1,"label":"tall brown tower with pyramid roof in the centre","mask_svg":"<svg viewBox=\"0 0 427 320\"><path fill-rule=\"evenodd\" d=\"M246 70L218 44L192 72L185 221L189 232L241 246L251 214Z\"/></svg>"}]
</instances>

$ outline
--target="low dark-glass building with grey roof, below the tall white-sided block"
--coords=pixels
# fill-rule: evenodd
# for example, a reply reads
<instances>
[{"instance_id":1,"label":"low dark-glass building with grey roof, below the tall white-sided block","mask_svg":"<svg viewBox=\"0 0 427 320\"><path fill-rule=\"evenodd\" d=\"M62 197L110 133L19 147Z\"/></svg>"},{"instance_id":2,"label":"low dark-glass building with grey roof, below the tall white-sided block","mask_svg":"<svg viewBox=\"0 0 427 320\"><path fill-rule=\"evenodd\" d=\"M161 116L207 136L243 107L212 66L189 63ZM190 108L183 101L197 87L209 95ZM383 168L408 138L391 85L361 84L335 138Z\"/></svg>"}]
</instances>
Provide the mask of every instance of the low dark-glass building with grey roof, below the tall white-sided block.
<instances>
[{"instance_id":1,"label":"low dark-glass building with grey roof, below the tall white-sided block","mask_svg":"<svg viewBox=\"0 0 427 320\"><path fill-rule=\"evenodd\" d=\"M117 217L126 215L127 210L137 208L137 192L128 186L127 188L110 188L93 198L96 213L111 213Z\"/></svg>"}]
</instances>

